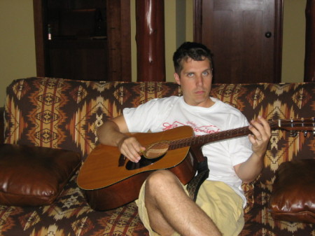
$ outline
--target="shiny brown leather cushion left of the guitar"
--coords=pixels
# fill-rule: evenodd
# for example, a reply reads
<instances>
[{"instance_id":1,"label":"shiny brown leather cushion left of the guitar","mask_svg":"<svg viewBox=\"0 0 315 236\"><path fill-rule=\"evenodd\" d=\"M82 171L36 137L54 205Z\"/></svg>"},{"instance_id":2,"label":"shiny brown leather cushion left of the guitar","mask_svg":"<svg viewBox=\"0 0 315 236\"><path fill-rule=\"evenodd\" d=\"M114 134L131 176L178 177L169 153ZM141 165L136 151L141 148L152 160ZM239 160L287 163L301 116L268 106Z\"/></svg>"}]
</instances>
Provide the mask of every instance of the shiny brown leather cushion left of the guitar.
<instances>
[{"instance_id":1,"label":"shiny brown leather cushion left of the guitar","mask_svg":"<svg viewBox=\"0 0 315 236\"><path fill-rule=\"evenodd\" d=\"M51 204L80 164L73 151L1 144L0 204Z\"/></svg>"}]
</instances>

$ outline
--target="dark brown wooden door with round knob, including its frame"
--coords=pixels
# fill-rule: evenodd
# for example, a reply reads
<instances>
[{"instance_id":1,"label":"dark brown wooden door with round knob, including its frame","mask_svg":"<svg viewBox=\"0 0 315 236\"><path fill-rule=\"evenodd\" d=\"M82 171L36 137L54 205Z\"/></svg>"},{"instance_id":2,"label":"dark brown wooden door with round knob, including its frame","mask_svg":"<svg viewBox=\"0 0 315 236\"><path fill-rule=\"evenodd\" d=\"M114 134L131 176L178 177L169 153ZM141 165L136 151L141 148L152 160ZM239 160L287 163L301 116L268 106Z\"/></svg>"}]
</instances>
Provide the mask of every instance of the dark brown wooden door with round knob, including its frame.
<instances>
[{"instance_id":1,"label":"dark brown wooden door with round knob, including its frame","mask_svg":"<svg viewBox=\"0 0 315 236\"><path fill-rule=\"evenodd\" d=\"M195 0L194 39L213 53L214 83L281 81L282 0Z\"/></svg>"}]
</instances>

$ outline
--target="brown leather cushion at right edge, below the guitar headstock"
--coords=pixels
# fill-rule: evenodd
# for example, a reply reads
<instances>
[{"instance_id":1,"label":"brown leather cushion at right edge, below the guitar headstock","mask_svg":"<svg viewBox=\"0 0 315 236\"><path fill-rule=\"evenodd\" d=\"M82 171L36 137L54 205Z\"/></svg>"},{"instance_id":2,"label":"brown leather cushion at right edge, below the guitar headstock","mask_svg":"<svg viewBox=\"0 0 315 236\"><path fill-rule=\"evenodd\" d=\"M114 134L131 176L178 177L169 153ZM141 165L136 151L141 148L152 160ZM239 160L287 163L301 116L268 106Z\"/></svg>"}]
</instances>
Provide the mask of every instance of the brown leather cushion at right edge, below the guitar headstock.
<instances>
[{"instance_id":1,"label":"brown leather cushion at right edge, below the guitar headstock","mask_svg":"<svg viewBox=\"0 0 315 236\"><path fill-rule=\"evenodd\" d=\"M315 159L283 162L269 208L276 220L315 223Z\"/></svg>"}]
</instances>

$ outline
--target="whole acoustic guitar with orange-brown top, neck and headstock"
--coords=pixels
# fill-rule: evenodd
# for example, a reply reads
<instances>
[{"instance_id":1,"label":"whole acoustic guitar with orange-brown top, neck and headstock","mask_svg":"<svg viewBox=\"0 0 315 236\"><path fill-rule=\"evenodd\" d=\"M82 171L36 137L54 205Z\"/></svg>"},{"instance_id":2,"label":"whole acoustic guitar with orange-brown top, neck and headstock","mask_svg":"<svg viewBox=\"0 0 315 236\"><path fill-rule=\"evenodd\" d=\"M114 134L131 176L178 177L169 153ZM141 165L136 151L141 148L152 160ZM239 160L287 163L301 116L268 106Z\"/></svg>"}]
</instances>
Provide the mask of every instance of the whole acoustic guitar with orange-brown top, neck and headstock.
<instances>
[{"instance_id":1,"label":"whole acoustic guitar with orange-brown top, neck and headstock","mask_svg":"<svg viewBox=\"0 0 315 236\"><path fill-rule=\"evenodd\" d=\"M272 130L308 131L315 134L314 118L269 121ZM114 209L138 198L142 183L151 172L169 169L186 184L195 176L197 163L203 160L204 144L245 136L246 127L193 136L190 126L156 133L129 133L146 151L138 163L125 158L116 146L99 144L92 150L78 173L77 183L83 190L102 190L104 210Z\"/></svg>"}]
</instances>

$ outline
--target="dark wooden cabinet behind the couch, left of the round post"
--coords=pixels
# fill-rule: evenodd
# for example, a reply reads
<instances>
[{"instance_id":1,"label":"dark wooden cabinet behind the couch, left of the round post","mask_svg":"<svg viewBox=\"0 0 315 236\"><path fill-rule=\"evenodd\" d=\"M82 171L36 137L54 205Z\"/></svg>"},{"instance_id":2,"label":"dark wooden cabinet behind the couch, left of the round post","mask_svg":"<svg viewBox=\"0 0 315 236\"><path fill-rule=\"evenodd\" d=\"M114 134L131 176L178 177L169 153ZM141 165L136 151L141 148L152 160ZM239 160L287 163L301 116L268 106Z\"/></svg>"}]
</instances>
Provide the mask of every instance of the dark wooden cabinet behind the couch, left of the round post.
<instances>
[{"instance_id":1,"label":"dark wooden cabinet behind the couch, left of the round post","mask_svg":"<svg viewBox=\"0 0 315 236\"><path fill-rule=\"evenodd\" d=\"M34 0L34 23L38 76L131 80L130 1Z\"/></svg>"}]
</instances>

